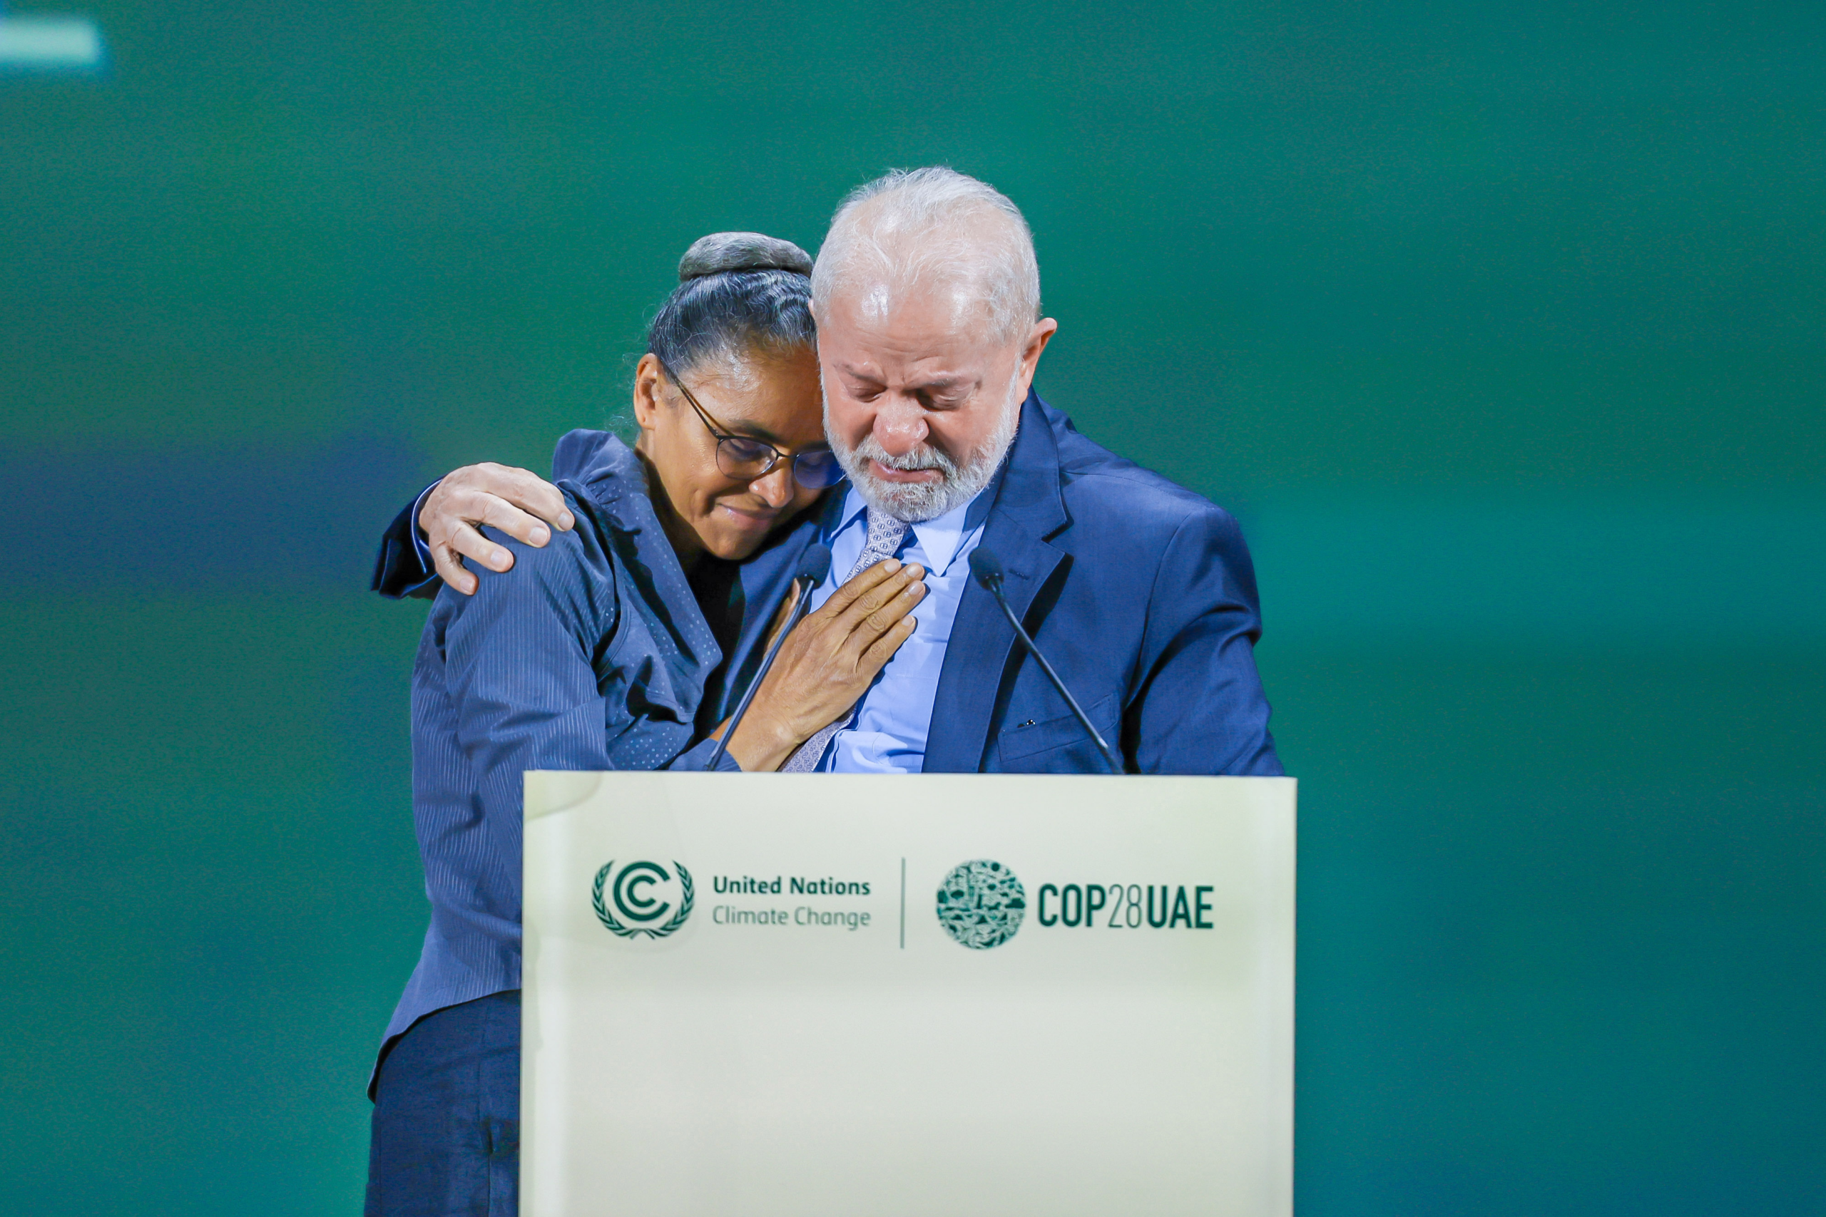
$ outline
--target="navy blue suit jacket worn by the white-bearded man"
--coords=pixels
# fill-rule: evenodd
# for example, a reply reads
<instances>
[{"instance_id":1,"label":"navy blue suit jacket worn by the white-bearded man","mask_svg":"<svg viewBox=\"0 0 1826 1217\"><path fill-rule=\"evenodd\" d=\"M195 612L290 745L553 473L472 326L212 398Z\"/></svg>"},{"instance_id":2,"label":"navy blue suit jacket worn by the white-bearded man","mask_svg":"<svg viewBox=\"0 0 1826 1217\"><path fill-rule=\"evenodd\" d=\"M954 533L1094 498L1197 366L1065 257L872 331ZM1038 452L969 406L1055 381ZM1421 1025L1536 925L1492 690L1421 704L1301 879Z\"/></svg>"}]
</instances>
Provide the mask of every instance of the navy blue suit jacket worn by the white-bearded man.
<instances>
[{"instance_id":1,"label":"navy blue suit jacket worn by the white-bearded man","mask_svg":"<svg viewBox=\"0 0 1826 1217\"><path fill-rule=\"evenodd\" d=\"M575 460L592 445L568 438ZM606 436L604 436L606 440ZM568 476L568 469L553 469ZM389 529L376 588L422 578L409 513ZM760 639L818 531L805 518L741 566L741 631L705 690L705 719L732 706ZM1211 500L1081 436L1037 394L997 480L982 546L1066 688L1139 774L1280 774L1254 666L1254 566L1236 520ZM971 584L957 609L926 741L926 772L1097 774L1085 737L995 600Z\"/></svg>"}]
</instances>

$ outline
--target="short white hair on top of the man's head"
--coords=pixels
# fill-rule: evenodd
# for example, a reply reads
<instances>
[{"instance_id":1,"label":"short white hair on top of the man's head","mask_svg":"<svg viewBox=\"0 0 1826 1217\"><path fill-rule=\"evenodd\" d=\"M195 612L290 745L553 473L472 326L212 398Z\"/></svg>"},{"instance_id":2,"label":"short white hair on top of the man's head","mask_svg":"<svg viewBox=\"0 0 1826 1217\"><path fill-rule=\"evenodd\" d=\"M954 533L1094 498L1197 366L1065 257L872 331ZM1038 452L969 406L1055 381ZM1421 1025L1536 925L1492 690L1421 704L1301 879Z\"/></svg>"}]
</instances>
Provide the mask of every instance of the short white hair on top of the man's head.
<instances>
[{"instance_id":1,"label":"short white hair on top of the man's head","mask_svg":"<svg viewBox=\"0 0 1826 1217\"><path fill-rule=\"evenodd\" d=\"M964 285L981 294L990 332L1026 338L1039 321L1039 261L1021 208L944 166L891 170L849 192L811 272L813 312L853 281Z\"/></svg>"}]
</instances>

